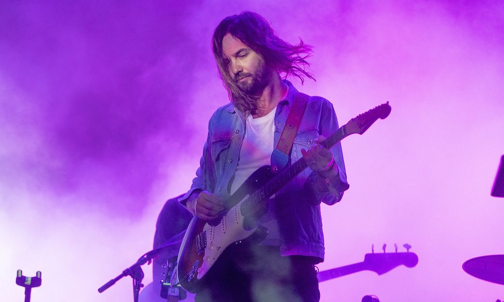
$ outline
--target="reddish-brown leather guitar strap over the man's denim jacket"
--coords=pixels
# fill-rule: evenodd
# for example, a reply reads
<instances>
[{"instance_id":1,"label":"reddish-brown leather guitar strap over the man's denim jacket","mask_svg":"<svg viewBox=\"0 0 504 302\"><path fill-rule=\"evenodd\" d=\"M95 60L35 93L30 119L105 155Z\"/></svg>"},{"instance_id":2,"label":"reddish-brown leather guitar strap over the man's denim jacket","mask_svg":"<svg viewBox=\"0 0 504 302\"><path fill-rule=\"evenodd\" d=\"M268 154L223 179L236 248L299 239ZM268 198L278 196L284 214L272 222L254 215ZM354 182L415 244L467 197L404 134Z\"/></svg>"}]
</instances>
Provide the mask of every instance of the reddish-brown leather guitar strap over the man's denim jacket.
<instances>
[{"instance_id":1,"label":"reddish-brown leather guitar strap over the man's denim jacket","mask_svg":"<svg viewBox=\"0 0 504 302\"><path fill-rule=\"evenodd\" d=\"M296 137L297 130L306 110L309 96L304 93L298 92L294 97L292 108L290 109L287 121L280 134L277 147L271 154L271 171L277 173L285 167L289 161L289 153L292 148L292 143Z\"/></svg>"}]
</instances>

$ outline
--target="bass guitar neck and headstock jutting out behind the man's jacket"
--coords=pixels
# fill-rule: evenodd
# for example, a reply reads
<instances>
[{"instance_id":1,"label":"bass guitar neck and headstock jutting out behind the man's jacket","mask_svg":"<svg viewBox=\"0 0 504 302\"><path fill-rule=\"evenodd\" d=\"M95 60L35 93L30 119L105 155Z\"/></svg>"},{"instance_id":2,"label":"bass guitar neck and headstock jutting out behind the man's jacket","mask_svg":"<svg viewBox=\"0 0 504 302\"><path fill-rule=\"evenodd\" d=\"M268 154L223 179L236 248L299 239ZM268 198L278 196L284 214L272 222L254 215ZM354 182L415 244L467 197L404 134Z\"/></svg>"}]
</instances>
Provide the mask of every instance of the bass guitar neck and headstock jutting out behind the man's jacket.
<instances>
[{"instance_id":1,"label":"bass guitar neck and headstock jutting out behind the man's jacket","mask_svg":"<svg viewBox=\"0 0 504 302\"><path fill-rule=\"evenodd\" d=\"M363 262L320 271L317 274L317 279L319 279L319 282L322 282L363 270L370 270L382 275L400 265L414 267L417 263L418 256L415 253L372 253L366 254Z\"/></svg>"}]
</instances>

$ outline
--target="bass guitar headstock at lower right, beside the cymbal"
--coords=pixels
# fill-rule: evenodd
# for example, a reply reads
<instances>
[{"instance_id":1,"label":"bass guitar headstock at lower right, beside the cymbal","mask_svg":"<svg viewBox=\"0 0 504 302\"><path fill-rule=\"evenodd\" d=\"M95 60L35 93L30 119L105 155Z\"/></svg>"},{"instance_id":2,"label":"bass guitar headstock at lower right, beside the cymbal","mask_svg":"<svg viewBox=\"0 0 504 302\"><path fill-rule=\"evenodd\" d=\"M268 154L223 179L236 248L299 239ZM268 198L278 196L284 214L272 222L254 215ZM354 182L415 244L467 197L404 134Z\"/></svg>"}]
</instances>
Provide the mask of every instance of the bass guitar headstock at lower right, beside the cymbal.
<instances>
[{"instance_id":1,"label":"bass guitar headstock at lower right, beside the cymbal","mask_svg":"<svg viewBox=\"0 0 504 302\"><path fill-rule=\"evenodd\" d=\"M392 269L405 265L414 267L418 263L418 256L415 253L373 253L364 256L366 269L382 275Z\"/></svg>"}]
</instances>

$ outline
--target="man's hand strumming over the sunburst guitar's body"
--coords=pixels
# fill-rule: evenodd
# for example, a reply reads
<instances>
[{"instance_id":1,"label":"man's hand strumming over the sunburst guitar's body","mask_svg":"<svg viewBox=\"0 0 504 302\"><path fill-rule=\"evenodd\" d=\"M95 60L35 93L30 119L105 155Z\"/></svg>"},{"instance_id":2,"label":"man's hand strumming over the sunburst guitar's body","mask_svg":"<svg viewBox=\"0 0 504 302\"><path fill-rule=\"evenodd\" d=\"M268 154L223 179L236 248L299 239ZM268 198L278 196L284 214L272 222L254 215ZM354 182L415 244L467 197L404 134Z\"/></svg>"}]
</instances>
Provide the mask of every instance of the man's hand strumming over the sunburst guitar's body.
<instances>
[{"instance_id":1,"label":"man's hand strumming over the sunburst guitar's body","mask_svg":"<svg viewBox=\"0 0 504 302\"><path fill-rule=\"evenodd\" d=\"M195 193L187 200L186 206L191 209L191 212L203 220L213 220L217 218L219 212L224 210L224 205L221 199L215 194L208 191Z\"/></svg>"}]
</instances>

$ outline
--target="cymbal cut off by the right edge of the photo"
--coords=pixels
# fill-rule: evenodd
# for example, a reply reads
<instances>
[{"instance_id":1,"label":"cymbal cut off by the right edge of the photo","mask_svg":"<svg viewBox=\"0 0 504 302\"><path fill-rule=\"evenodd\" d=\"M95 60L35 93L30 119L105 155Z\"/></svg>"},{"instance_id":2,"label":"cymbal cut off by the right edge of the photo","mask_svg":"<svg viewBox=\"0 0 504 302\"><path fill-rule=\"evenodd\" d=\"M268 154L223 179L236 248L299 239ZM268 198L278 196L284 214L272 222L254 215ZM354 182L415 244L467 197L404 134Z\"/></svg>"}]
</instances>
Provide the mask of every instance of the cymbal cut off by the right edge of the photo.
<instances>
[{"instance_id":1,"label":"cymbal cut off by the right edge of the photo","mask_svg":"<svg viewBox=\"0 0 504 302\"><path fill-rule=\"evenodd\" d=\"M462 264L469 275L497 284L504 284L504 255L489 255L469 259Z\"/></svg>"}]
</instances>

